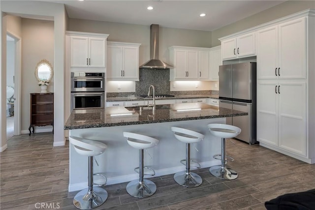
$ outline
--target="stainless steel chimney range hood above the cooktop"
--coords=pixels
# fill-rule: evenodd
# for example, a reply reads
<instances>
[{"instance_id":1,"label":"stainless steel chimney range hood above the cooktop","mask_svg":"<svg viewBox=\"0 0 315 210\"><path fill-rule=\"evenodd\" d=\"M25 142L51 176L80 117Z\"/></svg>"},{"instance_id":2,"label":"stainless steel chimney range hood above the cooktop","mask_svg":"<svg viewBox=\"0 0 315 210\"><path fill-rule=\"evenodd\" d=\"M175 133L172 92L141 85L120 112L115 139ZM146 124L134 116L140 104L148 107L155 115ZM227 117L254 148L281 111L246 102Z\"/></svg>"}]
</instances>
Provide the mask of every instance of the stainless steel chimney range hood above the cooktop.
<instances>
[{"instance_id":1,"label":"stainless steel chimney range hood above the cooktop","mask_svg":"<svg viewBox=\"0 0 315 210\"><path fill-rule=\"evenodd\" d=\"M158 59L158 25L150 26L150 60L139 68L169 69L172 65Z\"/></svg>"}]
</instances>

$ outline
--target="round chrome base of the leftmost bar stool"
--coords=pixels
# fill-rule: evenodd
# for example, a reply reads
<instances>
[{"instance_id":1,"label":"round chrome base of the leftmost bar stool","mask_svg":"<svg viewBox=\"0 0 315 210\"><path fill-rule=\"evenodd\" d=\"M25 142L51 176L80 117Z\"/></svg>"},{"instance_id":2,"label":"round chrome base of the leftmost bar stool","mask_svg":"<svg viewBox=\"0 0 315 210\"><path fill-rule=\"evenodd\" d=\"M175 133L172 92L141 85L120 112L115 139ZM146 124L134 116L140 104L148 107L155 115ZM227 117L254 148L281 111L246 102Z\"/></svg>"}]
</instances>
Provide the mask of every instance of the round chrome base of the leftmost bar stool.
<instances>
[{"instance_id":1,"label":"round chrome base of the leftmost bar stool","mask_svg":"<svg viewBox=\"0 0 315 210\"><path fill-rule=\"evenodd\" d=\"M91 210L102 205L108 197L108 193L101 187L93 187L93 191L83 189L73 199L73 204L81 210Z\"/></svg>"}]
</instances>

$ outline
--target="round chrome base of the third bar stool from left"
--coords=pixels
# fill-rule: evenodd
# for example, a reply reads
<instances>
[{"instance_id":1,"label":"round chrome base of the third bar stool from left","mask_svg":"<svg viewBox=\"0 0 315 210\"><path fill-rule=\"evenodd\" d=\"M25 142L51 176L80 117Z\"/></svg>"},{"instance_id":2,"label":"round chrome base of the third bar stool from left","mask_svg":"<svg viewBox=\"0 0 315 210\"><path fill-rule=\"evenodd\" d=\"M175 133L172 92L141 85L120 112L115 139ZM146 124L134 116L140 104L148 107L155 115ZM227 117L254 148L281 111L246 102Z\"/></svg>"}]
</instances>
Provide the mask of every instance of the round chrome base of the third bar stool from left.
<instances>
[{"instance_id":1,"label":"round chrome base of the third bar stool from left","mask_svg":"<svg viewBox=\"0 0 315 210\"><path fill-rule=\"evenodd\" d=\"M174 175L174 180L184 187L197 187L202 183L202 178L196 173L185 171L177 172Z\"/></svg>"}]
</instances>

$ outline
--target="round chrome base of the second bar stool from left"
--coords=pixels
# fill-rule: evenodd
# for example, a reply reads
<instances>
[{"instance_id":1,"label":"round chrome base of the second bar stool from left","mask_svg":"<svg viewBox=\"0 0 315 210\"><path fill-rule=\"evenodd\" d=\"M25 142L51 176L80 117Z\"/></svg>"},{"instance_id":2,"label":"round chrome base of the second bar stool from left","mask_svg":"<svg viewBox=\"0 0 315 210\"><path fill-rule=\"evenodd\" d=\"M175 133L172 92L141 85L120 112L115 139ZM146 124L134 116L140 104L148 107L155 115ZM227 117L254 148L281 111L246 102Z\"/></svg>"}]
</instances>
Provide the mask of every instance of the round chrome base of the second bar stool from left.
<instances>
[{"instance_id":1,"label":"round chrome base of the second bar stool from left","mask_svg":"<svg viewBox=\"0 0 315 210\"><path fill-rule=\"evenodd\" d=\"M157 191L157 185L151 180L132 180L127 184L126 190L133 197L146 198Z\"/></svg>"}]
</instances>

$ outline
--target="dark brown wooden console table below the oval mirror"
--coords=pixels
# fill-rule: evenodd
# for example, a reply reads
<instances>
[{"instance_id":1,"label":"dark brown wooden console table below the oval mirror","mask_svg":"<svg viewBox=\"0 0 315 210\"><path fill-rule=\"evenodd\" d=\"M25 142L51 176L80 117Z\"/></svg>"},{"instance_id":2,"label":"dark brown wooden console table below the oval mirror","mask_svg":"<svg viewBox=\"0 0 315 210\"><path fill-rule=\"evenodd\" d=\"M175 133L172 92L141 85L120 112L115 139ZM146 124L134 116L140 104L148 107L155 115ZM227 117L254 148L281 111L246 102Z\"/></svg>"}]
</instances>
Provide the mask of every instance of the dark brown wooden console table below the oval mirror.
<instances>
[{"instance_id":1,"label":"dark brown wooden console table below the oval mirror","mask_svg":"<svg viewBox=\"0 0 315 210\"><path fill-rule=\"evenodd\" d=\"M31 94L31 123L29 135L34 133L34 126L52 125L54 133L54 93ZM31 132L32 128L32 132Z\"/></svg>"}]
</instances>

